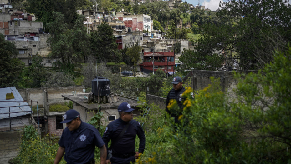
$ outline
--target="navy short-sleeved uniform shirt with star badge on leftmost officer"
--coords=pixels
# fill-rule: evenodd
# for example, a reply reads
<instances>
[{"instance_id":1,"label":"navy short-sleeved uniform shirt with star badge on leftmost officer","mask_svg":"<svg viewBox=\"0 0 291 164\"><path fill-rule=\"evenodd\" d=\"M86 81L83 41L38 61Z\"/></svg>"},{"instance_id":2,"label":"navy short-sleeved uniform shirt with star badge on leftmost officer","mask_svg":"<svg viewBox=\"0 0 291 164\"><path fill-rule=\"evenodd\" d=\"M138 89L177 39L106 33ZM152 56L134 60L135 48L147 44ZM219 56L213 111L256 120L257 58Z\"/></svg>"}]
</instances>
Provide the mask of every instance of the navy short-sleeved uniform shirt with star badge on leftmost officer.
<instances>
[{"instance_id":1,"label":"navy short-sleeved uniform shirt with star badge on leftmost officer","mask_svg":"<svg viewBox=\"0 0 291 164\"><path fill-rule=\"evenodd\" d=\"M76 130L69 131L66 127L59 140L59 146L65 148L64 160L68 164L82 164L92 161L95 146L102 147L103 145L104 142L99 131L82 121Z\"/></svg>"}]
</instances>

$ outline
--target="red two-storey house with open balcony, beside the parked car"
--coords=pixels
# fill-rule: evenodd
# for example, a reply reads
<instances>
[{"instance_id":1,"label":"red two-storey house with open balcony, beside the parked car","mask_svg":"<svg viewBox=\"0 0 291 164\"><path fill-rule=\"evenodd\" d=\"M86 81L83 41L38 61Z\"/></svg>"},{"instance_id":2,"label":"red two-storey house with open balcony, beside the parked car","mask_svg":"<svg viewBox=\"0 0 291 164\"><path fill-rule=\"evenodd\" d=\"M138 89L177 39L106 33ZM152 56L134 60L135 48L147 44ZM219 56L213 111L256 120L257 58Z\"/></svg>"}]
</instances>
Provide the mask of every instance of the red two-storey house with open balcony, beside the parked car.
<instances>
[{"instance_id":1,"label":"red two-storey house with open balcony, beside the parked car","mask_svg":"<svg viewBox=\"0 0 291 164\"><path fill-rule=\"evenodd\" d=\"M143 62L139 66L140 72L151 73L154 68L155 71L162 69L172 75L175 67L174 52L144 52Z\"/></svg>"}]
</instances>

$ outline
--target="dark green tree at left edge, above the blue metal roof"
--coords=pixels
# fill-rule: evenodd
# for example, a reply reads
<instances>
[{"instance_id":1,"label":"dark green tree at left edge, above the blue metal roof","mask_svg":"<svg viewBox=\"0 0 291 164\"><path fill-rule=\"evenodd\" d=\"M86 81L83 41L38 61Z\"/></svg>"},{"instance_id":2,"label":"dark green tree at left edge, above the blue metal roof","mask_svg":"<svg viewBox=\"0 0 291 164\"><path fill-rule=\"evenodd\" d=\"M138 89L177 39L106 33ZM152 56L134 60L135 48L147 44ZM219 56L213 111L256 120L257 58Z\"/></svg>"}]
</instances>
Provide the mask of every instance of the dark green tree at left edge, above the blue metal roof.
<instances>
[{"instance_id":1,"label":"dark green tree at left edge, above the blue metal roof","mask_svg":"<svg viewBox=\"0 0 291 164\"><path fill-rule=\"evenodd\" d=\"M24 63L15 58L16 55L14 43L6 41L4 36L0 34L0 88L17 87L17 78L22 72Z\"/></svg>"}]
</instances>

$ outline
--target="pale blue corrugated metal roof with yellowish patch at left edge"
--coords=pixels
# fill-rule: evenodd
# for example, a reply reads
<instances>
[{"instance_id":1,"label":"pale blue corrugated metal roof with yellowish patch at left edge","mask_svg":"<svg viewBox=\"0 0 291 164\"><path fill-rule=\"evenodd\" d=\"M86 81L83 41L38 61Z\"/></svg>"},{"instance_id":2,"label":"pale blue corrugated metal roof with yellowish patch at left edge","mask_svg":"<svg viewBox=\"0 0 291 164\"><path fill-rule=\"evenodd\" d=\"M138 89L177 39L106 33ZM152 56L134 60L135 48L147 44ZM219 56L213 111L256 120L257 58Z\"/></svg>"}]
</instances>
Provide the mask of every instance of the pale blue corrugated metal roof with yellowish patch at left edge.
<instances>
[{"instance_id":1,"label":"pale blue corrugated metal roof with yellowish patch at left edge","mask_svg":"<svg viewBox=\"0 0 291 164\"><path fill-rule=\"evenodd\" d=\"M11 92L13 93L14 99L6 100L6 93ZM15 87L0 88L0 101L0 119L9 118L9 107L10 117L24 116L31 113L28 103L23 102L23 98Z\"/></svg>"}]
</instances>

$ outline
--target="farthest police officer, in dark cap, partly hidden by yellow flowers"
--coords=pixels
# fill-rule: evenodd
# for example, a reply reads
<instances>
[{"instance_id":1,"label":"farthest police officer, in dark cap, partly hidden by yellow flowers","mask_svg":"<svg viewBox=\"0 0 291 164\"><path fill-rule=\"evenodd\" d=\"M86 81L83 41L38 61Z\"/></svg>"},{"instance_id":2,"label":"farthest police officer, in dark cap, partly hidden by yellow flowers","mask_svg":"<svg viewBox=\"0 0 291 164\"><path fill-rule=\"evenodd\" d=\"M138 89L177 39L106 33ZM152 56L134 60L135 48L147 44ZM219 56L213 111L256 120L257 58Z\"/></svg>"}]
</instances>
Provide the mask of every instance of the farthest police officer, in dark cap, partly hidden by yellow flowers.
<instances>
[{"instance_id":1,"label":"farthest police officer, in dark cap, partly hidden by yellow flowers","mask_svg":"<svg viewBox=\"0 0 291 164\"><path fill-rule=\"evenodd\" d=\"M179 117L179 115L181 115L181 112L179 112L179 113L172 113L167 108L167 106L168 106L168 104L169 104L169 102L170 102L171 99L175 99L177 101L178 106L182 109L183 108L183 104L182 104L182 101L183 101L182 93L186 89L183 87L182 79L179 76L176 76L176 77L173 78L172 84L173 84L173 88L171 89L171 91L167 95L166 112L168 112L171 117L174 117L175 118L175 123L178 123L178 117Z\"/></svg>"}]
</instances>

